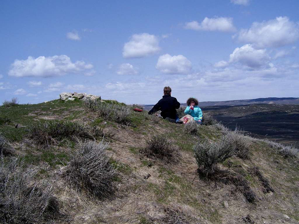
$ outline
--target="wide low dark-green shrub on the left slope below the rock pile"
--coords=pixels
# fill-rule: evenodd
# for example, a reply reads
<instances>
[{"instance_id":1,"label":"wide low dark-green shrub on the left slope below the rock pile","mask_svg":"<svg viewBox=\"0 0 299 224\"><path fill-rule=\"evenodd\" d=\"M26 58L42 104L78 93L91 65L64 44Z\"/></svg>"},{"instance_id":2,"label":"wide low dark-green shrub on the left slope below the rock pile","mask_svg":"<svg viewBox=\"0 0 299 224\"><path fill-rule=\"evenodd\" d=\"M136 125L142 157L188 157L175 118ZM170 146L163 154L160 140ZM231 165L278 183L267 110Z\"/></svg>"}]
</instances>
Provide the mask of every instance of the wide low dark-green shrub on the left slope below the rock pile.
<instances>
[{"instance_id":1,"label":"wide low dark-green shrub on the left slope below the rock pile","mask_svg":"<svg viewBox=\"0 0 299 224\"><path fill-rule=\"evenodd\" d=\"M77 138L94 139L90 132L83 125L71 121L48 121L43 124L32 125L29 130L29 137L38 145L57 144L57 140Z\"/></svg>"}]
</instances>

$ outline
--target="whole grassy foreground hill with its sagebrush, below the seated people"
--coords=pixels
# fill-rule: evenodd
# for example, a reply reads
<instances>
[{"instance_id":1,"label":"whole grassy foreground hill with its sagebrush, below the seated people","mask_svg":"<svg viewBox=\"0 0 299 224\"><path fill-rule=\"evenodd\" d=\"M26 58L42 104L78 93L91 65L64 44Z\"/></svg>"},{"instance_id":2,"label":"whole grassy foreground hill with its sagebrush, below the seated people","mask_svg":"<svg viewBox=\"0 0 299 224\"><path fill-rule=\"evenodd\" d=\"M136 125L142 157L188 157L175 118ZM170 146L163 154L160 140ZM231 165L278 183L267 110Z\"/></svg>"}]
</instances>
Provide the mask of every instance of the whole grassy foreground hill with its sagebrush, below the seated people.
<instances>
[{"instance_id":1,"label":"whole grassy foreground hill with its sagebrush, below the seated people","mask_svg":"<svg viewBox=\"0 0 299 224\"><path fill-rule=\"evenodd\" d=\"M134 107L1 106L1 223L299 223L298 149Z\"/></svg>"}]
</instances>

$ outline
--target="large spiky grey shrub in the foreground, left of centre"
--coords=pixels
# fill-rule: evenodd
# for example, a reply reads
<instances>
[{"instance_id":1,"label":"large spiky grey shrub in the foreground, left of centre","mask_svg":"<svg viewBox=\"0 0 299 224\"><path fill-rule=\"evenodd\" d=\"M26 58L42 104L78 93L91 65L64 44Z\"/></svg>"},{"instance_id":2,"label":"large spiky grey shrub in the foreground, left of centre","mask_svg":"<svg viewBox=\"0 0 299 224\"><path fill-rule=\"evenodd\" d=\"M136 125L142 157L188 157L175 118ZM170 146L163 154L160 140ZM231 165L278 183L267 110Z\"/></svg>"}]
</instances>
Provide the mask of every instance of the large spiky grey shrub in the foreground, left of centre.
<instances>
[{"instance_id":1,"label":"large spiky grey shrub in the foreground, left of centre","mask_svg":"<svg viewBox=\"0 0 299 224\"><path fill-rule=\"evenodd\" d=\"M99 198L111 195L116 190L116 170L106 156L107 147L103 141L83 143L68 162L65 181L75 190L85 190Z\"/></svg>"}]
</instances>

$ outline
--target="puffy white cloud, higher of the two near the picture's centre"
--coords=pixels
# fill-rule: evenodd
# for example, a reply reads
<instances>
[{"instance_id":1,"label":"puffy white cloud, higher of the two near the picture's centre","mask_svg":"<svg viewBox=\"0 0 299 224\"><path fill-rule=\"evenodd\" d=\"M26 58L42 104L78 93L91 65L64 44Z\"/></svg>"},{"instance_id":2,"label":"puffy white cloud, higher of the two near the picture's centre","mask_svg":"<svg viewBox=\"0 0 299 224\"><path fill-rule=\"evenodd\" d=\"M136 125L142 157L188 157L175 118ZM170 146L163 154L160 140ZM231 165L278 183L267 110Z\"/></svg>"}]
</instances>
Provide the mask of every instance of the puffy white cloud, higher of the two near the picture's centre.
<instances>
[{"instance_id":1,"label":"puffy white cloud, higher of the two near the picture's centre","mask_svg":"<svg viewBox=\"0 0 299 224\"><path fill-rule=\"evenodd\" d=\"M160 50L159 40L148 33L134 34L123 46L124 58L141 58L157 53Z\"/></svg>"}]
</instances>

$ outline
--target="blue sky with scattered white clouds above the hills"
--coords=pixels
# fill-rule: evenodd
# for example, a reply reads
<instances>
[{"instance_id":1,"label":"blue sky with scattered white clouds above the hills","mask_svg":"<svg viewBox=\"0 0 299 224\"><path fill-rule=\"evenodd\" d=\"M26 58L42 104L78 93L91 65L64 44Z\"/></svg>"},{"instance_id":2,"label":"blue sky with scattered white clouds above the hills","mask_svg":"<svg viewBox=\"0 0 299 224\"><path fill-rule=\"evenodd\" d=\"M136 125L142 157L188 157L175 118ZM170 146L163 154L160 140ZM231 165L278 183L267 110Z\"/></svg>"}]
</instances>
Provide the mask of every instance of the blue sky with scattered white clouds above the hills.
<instances>
[{"instance_id":1,"label":"blue sky with scattered white clouds above the hills","mask_svg":"<svg viewBox=\"0 0 299 224\"><path fill-rule=\"evenodd\" d=\"M0 103L299 97L299 1L1 1Z\"/></svg>"}]
</instances>

